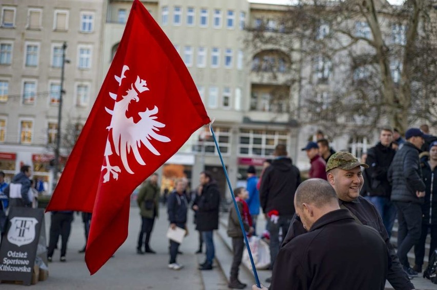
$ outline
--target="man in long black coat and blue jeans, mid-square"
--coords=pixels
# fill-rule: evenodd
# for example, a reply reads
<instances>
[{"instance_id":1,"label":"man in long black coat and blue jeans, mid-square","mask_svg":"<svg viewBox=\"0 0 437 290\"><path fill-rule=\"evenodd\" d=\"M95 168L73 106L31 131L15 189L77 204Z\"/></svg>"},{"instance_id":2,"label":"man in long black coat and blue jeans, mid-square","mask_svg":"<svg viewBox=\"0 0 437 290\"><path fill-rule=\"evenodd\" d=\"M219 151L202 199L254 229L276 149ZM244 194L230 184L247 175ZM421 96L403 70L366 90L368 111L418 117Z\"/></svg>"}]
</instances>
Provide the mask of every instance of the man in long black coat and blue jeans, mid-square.
<instances>
[{"instance_id":1,"label":"man in long black coat and blue jeans, mid-square","mask_svg":"<svg viewBox=\"0 0 437 290\"><path fill-rule=\"evenodd\" d=\"M199 270L212 270L212 261L215 255L212 237L213 231L218 229L220 192L209 171L200 174L200 184L202 192L198 198L198 203L192 207L197 212L196 230L202 232L206 244L206 260L200 265Z\"/></svg>"}]
</instances>

